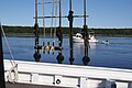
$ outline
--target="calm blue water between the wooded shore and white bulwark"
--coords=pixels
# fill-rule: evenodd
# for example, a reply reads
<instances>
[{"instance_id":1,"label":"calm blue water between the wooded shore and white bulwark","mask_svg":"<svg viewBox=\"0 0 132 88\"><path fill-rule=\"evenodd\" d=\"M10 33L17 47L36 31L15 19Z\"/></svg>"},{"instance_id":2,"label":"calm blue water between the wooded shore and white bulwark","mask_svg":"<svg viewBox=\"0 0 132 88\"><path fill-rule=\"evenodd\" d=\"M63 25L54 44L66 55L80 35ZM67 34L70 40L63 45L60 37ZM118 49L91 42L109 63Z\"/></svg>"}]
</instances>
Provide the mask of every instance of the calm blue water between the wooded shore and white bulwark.
<instances>
[{"instance_id":1,"label":"calm blue water between the wooded shore and white bulwark","mask_svg":"<svg viewBox=\"0 0 132 88\"><path fill-rule=\"evenodd\" d=\"M89 48L89 66L114 67L132 69L132 37L107 37L98 36L99 43L90 44ZM109 40L110 44L101 44L101 41ZM8 37L14 59L34 62L34 37ZM43 41L53 42L54 38L40 38L40 45ZM65 37L63 43L64 64L69 64L69 38ZM55 45L58 41L55 40ZM11 55L8 51L7 43L3 38L4 58L10 59ZM57 63L56 56L58 52L53 54L42 54L41 62ZM74 64L82 65L84 44L74 43Z\"/></svg>"}]
</instances>

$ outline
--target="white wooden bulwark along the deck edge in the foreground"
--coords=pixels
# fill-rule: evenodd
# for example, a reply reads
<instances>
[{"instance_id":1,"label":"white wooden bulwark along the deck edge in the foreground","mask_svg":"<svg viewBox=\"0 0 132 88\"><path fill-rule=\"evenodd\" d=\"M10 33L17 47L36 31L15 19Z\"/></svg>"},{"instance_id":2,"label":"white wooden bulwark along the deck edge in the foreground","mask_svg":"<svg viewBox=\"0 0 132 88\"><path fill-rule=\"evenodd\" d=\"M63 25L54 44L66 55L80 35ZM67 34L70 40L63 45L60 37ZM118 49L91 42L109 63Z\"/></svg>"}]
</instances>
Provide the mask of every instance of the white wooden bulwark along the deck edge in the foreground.
<instances>
[{"instance_id":1,"label":"white wooden bulwark along the deck edge in the foreground","mask_svg":"<svg viewBox=\"0 0 132 88\"><path fill-rule=\"evenodd\" d=\"M18 64L16 82L50 85L73 88L132 88L132 70L91 66L75 66L20 62ZM12 67L4 59L6 80ZM12 78L13 78L12 72ZM117 86L117 87L114 87Z\"/></svg>"}]
</instances>

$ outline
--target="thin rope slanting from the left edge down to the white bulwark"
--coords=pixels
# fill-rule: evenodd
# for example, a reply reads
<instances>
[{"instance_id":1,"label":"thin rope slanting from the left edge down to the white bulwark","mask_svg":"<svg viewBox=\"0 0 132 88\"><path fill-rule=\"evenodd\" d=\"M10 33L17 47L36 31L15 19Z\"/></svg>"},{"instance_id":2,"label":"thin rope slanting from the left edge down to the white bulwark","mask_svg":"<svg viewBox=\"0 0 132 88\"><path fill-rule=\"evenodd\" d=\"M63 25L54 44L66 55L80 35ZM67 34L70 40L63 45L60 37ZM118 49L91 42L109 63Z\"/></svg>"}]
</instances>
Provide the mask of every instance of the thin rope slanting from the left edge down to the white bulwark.
<instances>
[{"instance_id":1,"label":"thin rope slanting from the left edge down to the white bulwark","mask_svg":"<svg viewBox=\"0 0 132 88\"><path fill-rule=\"evenodd\" d=\"M14 57L13 57L13 54L12 54L12 52L11 52L11 48L10 48L10 45L9 45L9 42L8 42L8 38L7 38L7 36L6 36L6 33L4 33L4 31L3 31L2 25L1 25L1 31L2 31L3 37L4 37L4 40L6 40L6 43L7 43L7 45L8 45L9 53L11 54L12 61L10 59L10 63L11 63L12 66L15 66L16 64L15 64L15 62L14 62Z\"/></svg>"}]
</instances>

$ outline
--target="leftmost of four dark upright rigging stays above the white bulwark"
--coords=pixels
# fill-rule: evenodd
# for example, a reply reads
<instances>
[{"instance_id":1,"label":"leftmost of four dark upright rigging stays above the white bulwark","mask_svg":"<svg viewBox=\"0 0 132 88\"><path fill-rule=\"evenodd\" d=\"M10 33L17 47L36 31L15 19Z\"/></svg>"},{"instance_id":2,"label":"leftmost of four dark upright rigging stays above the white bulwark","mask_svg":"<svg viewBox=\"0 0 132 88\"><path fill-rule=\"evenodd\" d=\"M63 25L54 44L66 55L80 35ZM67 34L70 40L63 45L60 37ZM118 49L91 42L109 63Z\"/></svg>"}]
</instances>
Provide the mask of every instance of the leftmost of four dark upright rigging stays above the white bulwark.
<instances>
[{"instance_id":1,"label":"leftmost of four dark upright rigging stays above the white bulwark","mask_svg":"<svg viewBox=\"0 0 132 88\"><path fill-rule=\"evenodd\" d=\"M35 62L40 62L41 54L38 51L38 23L37 23L37 0L35 0L35 24L34 24L34 34L35 34L35 53L34 58Z\"/></svg>"}]
</instances>

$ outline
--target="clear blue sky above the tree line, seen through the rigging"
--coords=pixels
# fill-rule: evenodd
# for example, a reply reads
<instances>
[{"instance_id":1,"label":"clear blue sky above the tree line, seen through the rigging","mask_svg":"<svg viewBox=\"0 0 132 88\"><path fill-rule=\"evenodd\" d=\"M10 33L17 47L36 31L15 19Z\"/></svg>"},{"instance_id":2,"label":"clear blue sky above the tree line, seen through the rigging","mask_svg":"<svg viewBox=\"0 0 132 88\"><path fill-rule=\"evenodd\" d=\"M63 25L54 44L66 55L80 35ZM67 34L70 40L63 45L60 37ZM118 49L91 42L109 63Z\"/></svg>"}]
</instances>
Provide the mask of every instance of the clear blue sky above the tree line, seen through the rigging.
<instances>
[{"instance_id":1,"label":"clear blue sky above the tree line, seen through the rigging","mask_svg":"<svg viewBox=\"0 0 132 88\"><path fill-rule=\"evenodd\" d=\"M43 0L38 0L41 2ZM44 0L52 1L52 0ZM73 0L74 15L82 15L84 0ZM86 0L88 28L132 28L132 0ZM33 26L35 15L35 0L0 0L0 21L3 25ZM68 15L69 0L62 0L62 14ZM58 11L58 10L57 10ZM52 14L52 4L45 4L45 15ZM58 13L57 13L58 14ZM38 15L42 15L42 6L38 6ZM51 19L45 25L51 26ZM54 19L55 24L55 19ZM63 19L63 26L68 26L67 19ZM42 20L38 20L42 26ZM74 26L82 28L84 19L74 19ZM53 25L55 26L55 25ZM58 20L57 24L58 26Z\"/></svg>"}]
</instances>

